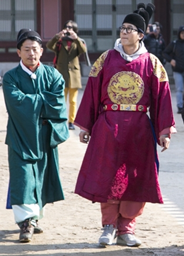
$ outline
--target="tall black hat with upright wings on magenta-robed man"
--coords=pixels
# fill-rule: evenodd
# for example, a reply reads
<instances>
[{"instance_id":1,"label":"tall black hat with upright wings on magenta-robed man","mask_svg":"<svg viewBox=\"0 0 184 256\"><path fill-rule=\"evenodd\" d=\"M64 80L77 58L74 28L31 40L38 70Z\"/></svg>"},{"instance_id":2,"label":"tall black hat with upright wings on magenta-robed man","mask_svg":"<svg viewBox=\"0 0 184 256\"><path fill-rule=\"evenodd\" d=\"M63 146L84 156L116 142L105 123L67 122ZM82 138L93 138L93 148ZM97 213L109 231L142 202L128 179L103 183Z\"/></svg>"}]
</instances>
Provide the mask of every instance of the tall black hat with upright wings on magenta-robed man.
<instances>
[{"instance_id":1,"label":"tall black hat with upright wings on magenta-robed man","mask_svg":"<svg viewBox=\"0 0 184 256\"><path fill-rule=\"evenodd\" d=\"M146 33L149 20L154 11L155 5L149 3L146 6L144 3L140 3L137 5L137 9L136 11L134 11L134 13L130 13L125 17L122 24L130 23L132 25L135 25L138 29L140 29L140 32Z\"/></svg>"}]
</instances>

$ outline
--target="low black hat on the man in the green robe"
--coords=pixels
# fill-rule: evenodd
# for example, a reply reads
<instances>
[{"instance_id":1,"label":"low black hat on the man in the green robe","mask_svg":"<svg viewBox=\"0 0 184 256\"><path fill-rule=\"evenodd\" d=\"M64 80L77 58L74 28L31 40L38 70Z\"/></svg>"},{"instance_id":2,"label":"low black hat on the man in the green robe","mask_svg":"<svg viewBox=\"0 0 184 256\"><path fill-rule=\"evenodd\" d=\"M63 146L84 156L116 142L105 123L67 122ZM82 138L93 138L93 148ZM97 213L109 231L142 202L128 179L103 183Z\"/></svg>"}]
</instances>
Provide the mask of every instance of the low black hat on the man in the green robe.
<instances>
[{"instance_id":1,"label":"low black hat on the man in the green robe","mask_svg":"<svg viewBox=\"0 0 184 256\"><path fill-rule=\"evenodd\" d=\"M17 35L17 48L19 50L21 50L21 45L24 43L26 39L34 40L42 44L42 39L36 31L23 28L18 32L18 35Z\"/></svg>"}]
</instances>

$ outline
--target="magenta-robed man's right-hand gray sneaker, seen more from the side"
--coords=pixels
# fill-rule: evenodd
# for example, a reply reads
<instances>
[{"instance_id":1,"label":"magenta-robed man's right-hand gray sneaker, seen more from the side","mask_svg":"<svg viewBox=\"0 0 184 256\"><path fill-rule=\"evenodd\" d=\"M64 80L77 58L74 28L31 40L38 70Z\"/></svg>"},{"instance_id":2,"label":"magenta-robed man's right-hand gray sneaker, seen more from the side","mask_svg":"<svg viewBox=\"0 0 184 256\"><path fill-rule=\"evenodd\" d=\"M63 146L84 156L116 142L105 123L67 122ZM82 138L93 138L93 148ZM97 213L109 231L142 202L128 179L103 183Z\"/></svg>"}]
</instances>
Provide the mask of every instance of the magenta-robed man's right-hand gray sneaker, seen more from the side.
<instances>
[{"instance_id":1,"label":"magenta-robed man's right-hand gray sneaker, seen more from the side","mask_svg":"<svg viewBox=\"0 0 184 256\"><path fill-rule=\"evenodd\" d=\"M141 241L135 237L134 234L122 234L117 237L118 245L128 245L132 247L138 247L141 245Z\"/></svg>"}]
</instances>

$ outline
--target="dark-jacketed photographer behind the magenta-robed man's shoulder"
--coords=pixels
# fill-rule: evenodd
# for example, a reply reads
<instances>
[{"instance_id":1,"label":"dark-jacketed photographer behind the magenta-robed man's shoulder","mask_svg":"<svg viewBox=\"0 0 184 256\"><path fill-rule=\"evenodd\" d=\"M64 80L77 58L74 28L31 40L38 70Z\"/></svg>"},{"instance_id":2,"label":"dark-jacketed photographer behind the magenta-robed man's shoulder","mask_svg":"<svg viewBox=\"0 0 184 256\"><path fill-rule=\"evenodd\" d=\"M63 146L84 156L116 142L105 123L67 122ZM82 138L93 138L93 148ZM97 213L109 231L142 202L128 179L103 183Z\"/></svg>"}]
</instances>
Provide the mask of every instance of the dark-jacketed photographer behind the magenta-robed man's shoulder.
<instances>
[{"instance_id":1,"label":"dark-jacketed photographer behind the magenta-robed man's shoulder","mask_svg":"<svg viewBox=\"0 0 184 256\"><path fill-rule=\"evenodd\" d=\"M159 22L154 22L154 24L149 24L147 29L147 34L144 38L144 44L149 53L154 54L164 65L166 63L162 56L163 50L165 50L166 43L161 35L162 26Z\"/></svg>"}]
</instances>

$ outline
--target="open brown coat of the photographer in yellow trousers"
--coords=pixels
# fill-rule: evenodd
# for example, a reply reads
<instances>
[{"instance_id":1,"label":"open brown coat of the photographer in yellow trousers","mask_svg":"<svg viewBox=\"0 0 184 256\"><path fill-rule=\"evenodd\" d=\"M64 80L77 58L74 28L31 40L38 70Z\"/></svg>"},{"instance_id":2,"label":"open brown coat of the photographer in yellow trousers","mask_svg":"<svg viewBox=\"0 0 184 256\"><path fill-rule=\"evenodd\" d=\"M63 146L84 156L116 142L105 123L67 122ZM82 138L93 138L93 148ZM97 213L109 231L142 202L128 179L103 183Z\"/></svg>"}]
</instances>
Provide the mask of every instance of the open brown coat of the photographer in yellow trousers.
<instances>
[{"instance_id":1,"label":"open brown coat of the photographer in yellow trousers","mask_svg":"<svg viewBox=\"0 0 184 256\"><path fill-rule=\"evenodd\" d=\"M46 47L57 52L58 37L55 35L50 39ZM86 46L80 41L79 37L71 43L70 51L68 52L67 41L62 41L62 47L60 48L57 59L57 70L63 75L65 80L65 87L81 88L81 74L78 56L81 53L86 52Z\"/></svg>"}]
</instances>

